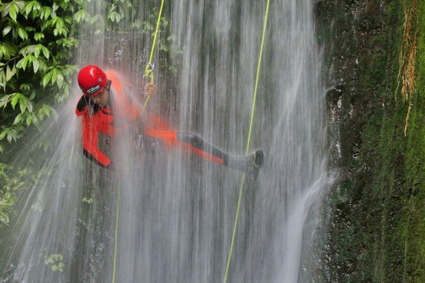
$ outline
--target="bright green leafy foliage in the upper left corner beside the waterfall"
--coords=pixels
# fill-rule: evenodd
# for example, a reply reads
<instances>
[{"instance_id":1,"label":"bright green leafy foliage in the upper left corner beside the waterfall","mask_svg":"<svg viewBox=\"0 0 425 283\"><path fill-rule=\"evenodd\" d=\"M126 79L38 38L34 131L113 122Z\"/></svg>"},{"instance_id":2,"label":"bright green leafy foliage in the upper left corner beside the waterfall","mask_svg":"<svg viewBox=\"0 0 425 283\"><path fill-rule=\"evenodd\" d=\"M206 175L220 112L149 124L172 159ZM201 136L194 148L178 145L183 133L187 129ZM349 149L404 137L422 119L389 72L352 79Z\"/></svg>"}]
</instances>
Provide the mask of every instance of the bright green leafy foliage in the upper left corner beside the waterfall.
<instances>
[{"instance_id":1,"label":"bright green leafy foliage in the upper left corner beside the waterfall","mask_svg":"<svg viewBox=\"0 0 425 283\"><path fill-rule=\"evenodd\" d=\"M73 11L84 1L0 3L0 143L56 114L51 103L69 95L75 66L66 64L78 44ZM3 148L3 147L2 147Z\"/></svg>"}]
</instances>

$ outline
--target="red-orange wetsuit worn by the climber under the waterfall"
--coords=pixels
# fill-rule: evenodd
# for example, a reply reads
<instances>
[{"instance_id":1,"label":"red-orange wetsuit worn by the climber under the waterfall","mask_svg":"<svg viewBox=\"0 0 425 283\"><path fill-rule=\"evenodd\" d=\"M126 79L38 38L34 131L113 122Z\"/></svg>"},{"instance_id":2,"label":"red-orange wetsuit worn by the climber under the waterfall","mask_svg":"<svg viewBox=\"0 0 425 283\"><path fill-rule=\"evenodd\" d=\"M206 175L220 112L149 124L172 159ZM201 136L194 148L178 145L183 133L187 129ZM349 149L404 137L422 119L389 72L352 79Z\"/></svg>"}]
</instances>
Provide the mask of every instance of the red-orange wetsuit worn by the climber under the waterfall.
<instances>
[{"instance_id":1,"label":"red-orange wetsuit worn by the climber under the waterfall","mask_svg":"<svg viewBox=\"0 0 425 283\"><path fill-rule=\"evenodd\" d=\"M114 110L112 111L107 106L99 107L83 96L78 102L77 108L75 108L75 113L77 116L82 116L84 155L103 167L109 167L112 160L99 149L99 134L104 133L110 137L115 136L119 130L113 125L114 115L124 117L129 121L130 125L131 122L137 121L139 110L134 106L130 98L125 95L124 84L119 79L119 76L113 71L106 71L105 73L108 79L112 81ZM236 166L232 166L232 164L236 164L232 162L232 156L224 153L221 149L205 143L202 138L195 134L172 131L165 121L153 114L147 116L143 134L162 140L167 149L178 146L206 160L230 167Z\"/></svg>"}]
</instances>

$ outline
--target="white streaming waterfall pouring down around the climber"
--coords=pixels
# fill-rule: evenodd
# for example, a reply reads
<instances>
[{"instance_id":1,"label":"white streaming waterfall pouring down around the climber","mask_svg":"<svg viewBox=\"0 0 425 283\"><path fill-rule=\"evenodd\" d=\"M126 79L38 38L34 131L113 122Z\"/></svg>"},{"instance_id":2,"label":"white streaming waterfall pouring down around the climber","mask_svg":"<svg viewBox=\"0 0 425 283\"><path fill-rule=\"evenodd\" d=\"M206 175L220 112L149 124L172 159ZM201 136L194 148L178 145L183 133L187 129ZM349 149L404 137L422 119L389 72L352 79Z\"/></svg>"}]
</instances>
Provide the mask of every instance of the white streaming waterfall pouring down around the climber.
<instances>
[{"instance_id":1,"label":"white streaming waterfall pouring down around the climber","mask_svg":"<svg viewBox=\"0 0 425 283\"><path fill-rule=\"evenodd\" d=\"M265 151L265 164L245 184L228 282L306 282L313 276L311 241L328 184L313 2L271 1L251 143L252 151ZM100 4L90 2L89 12L103 13ZM151 11L147 4L134 9L140 19ZM165 15L182 48L169 59L179 71L165 77L156 69L158 95L148 111L173 129L243 155L264 11L265 1L168 3ZM121 32L93 35L98 28L80 31L75 64L117 70L137 88L150 39L124 32L124 24ZM136 88L128 90L134 98ZM223 280L241 173L150 140L138 143L131 129L106 145L114 170L99 169L82 155L76 87L72 96L59 109L59 121L45 125L44 138L56 150L38 162L53 172L40 176L21 201L3 280L111 282L114 251L116 282ZM24 146L13 164L37 152ZM53 271L60 262L63 271Z\"/></svg>"}]
</instances>

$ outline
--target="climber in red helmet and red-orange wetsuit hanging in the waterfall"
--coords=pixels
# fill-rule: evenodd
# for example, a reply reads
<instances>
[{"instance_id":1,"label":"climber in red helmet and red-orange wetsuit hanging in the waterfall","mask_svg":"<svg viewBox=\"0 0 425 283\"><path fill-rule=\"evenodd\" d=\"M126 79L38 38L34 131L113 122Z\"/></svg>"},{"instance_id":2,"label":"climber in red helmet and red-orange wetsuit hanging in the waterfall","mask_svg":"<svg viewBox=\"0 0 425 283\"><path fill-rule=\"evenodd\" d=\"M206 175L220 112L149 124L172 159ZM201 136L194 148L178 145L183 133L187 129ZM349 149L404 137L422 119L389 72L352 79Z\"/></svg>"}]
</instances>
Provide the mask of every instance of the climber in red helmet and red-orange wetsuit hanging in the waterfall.
<instances>
[{"instance_id":1,"label":"climber in red helmet and red-orange wetsuit hanging in the waterfall","mask_svg":"<svg viewBox=\"0 0 425 283\"><path fill-rule=\"evenodd\" d=\"M138 123L140 111L126 95L124 88L126 84L114 71L104 72L98 66L89 65L80 70L77 80L83 95L77 103L75 112L77 116L82 116L84 155L102 167L110 167L112 160L98 147L99 134L116 136L121 130L114 123L116 117L120 116L131 125ZM145 95L151 96L155 93L156 86L147 84ZM167 149L182 148L204 160L245 173L258 173L263 164L261 149L249 156L231 156L206 143L196 134L171 130L165 121L153 114L147 115L143 124L143 136L160 140Z\"/></svg>"}]
</instances>

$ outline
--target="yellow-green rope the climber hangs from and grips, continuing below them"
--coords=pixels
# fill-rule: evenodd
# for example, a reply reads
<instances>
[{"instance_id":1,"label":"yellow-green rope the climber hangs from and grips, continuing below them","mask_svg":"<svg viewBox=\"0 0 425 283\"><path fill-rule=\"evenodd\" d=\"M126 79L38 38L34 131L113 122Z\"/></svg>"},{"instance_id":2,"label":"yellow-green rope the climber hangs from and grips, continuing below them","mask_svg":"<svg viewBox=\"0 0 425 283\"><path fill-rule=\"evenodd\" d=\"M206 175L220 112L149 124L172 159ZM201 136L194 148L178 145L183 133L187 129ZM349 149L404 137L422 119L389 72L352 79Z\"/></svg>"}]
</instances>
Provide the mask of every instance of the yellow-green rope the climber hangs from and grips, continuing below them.
<instances>
[{"instance_id":1,"label":"yellow-green rope the climber hangs from and grips, continuing below them","mask_svg":"<svg viewBox=\"0 0 425 283\"><path fill-rule=\"evenodd\" d=\"M156 29L155 29L155 34L154 34L154 41L152 42L151 53L150 53L150 56L149 56L149 63L147 63L146 68L145 68L145 73L144 73L144 76L145 77L149 77L149 80L150 80L151 83L154 82L154 68L153 68L154 65L152 64L152 59L154 58L156 38L158 38L158 30L159 30L160 21L161 21L162 10L164 8L164 2L165 2L165 0L162 0L161 1L160 10L159 10L159 13L158 13L158 19L156 21ZM148 95L147 98L146 98L145 103L143 104L142 112L145 110L145 107L146 107L147 103L149 102L149 99L150 98L151 98L151 96ZM117 212L116 212L116 217L115 217L114 264L113 264L113 267L112 267L112 283L115 283L115 277L116 277L116 273L117 273L118 224L119 224L119 196L120 196L120 191L118 189L118 195L117 195Z\"/></svg>"}]
</instances>

